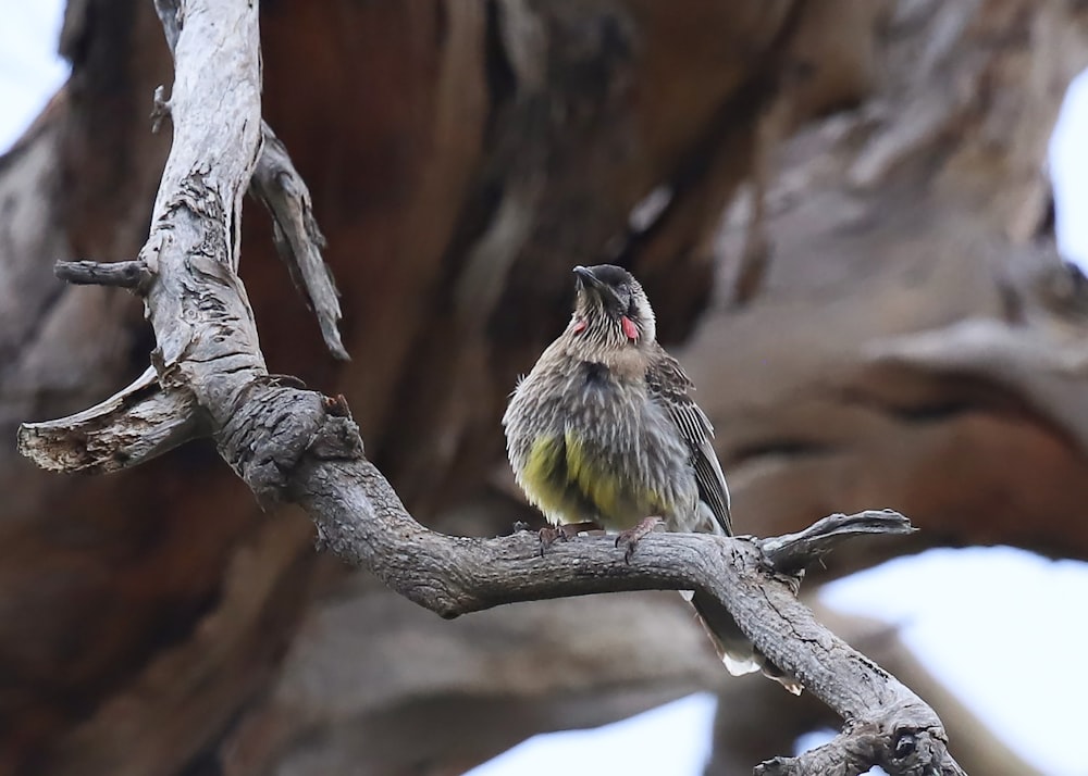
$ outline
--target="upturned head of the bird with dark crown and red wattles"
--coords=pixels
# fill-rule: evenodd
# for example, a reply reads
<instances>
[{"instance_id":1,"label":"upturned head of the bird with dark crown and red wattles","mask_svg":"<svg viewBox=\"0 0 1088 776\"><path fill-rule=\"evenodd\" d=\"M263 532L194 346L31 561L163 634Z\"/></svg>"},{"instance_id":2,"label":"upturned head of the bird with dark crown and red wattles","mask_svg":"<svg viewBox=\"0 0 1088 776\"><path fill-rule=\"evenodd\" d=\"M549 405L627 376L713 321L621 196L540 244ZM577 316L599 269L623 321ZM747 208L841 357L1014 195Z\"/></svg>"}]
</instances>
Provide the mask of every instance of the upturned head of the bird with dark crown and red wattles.
<instances>
[{"instance_id":1,"label":"upturned head of the bird with dark crown and red wattles","mask_svg":"<svg viewBox=\"0 0 1088 776\"><path fill-rule=\"evenodd\" d=\"M627 270L613 264L576 266L578 297L569 330L603 345L653 342L654 310L646 292Z\"/></svg>"}]
</instances>

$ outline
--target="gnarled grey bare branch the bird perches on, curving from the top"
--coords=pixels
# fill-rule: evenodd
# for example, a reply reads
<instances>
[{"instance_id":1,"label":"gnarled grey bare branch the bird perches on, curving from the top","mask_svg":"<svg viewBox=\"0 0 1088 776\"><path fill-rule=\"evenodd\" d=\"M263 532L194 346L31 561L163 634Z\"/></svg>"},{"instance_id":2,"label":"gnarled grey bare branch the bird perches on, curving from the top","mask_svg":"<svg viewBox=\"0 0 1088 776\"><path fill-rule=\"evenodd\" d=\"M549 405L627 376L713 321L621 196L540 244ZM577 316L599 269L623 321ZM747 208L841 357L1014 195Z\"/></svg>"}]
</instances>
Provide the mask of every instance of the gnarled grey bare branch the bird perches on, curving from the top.
<instances>
[{"instance_id":1,"label":"gnarled grey bare branch the bird perches on, curving from the top","mask_svg":"<svg viewBox=\"0 0 1088 776\"><path fill-rule=\"evenodd\" d=\"M112 471L210 435L262 504L299 503L321 546L444 617L564 596L701 591L846 723L831 743L764 763L758 773L857 774L874 764L892 774L962 773L934 711L820 626L783 574L850 535L910 530L901 515L834 515L763 540L656 534L630 563L607 537L559 543L541 556L528 531L469 539L417 523L367 461L344 400L269 375L258 348L237 276L243 196L267 148L257 3L156 4L174 42L176 77L173 147L139 256L151 274L139 289L158 342L153 372L78 415L22 426L23 454L48 468ZM308 208L305 187L292 196ZM309 229L305 216L300 223Z\"/></svg>"}]
</instances>

